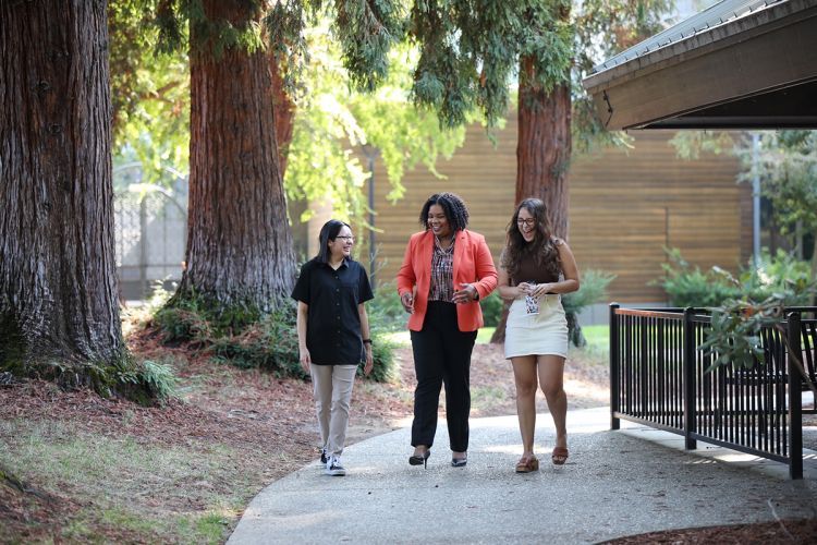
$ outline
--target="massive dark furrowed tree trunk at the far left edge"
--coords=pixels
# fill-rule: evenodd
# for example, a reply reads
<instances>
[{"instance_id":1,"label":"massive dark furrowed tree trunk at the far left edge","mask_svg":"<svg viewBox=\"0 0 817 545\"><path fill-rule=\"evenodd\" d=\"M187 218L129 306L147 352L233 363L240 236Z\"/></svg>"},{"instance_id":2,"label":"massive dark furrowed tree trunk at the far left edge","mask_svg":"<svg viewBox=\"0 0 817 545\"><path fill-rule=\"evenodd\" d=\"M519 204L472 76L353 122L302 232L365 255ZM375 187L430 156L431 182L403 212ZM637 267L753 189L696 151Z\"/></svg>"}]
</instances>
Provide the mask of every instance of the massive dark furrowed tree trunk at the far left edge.
<instances>
[{"instance_id":1,"label":"massive dark furrowed tree trunk at the far left edge","mask_svg":"<svg viewBox=\"0 0 817 545\"><path fill-rule=\"evenodd\" d=\"M124 351L106 12L0 4L0 368L74 385Z\"/></svg>"}]
</instances>

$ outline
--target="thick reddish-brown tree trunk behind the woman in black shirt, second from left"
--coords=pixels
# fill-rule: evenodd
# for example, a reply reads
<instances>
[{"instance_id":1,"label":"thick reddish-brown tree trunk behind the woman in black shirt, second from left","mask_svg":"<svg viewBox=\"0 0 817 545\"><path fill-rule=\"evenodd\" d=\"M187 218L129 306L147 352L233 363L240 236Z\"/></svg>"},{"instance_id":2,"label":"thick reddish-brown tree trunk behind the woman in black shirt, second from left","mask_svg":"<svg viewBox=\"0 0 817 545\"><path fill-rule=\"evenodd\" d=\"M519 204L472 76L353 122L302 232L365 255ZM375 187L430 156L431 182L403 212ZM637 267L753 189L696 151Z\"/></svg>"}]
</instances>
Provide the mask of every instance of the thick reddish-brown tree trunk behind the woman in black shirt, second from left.
<instances>
[{"instance_id":1,"label":"thick reddish-brown tree trunk behind the woman in black shirt, second from left","mask_svg":"<svg viewBox=\"0 0 817 545\"><path fill-rule=\"evenodd\" d=\"M236 27L260 13L206 0L210 21ZM191 175L186 268L179 295L272 310L295 278L265 51L214 44L191 25Z\"/></svg>"}]
</instances>

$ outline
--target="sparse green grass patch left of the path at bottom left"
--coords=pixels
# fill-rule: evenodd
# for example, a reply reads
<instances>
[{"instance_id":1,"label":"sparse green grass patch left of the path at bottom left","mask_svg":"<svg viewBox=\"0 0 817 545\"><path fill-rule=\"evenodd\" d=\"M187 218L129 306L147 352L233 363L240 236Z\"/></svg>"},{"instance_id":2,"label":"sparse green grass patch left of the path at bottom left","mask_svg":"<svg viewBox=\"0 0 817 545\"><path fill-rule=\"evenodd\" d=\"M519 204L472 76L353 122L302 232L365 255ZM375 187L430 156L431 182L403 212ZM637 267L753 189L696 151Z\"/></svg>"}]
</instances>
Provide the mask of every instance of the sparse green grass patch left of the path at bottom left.
<instances>
[{"instance_id":1,"label":"sparse green grass patch left of the path at bottom left","mask_svg":"<svg viewBox=\"0 0 817 545\"><path fill-rule=\"evenodd\" d=\"M70 541L96 541L103 526L137 541L221 543L230 524L224 513L257 492L233 462L244 455L211 441L145 445L23 419L0 422L0 436L9 439L0 441L0 460L10 471L50 494L93 498L62 529Z\"/></svg>"}]
</instances>

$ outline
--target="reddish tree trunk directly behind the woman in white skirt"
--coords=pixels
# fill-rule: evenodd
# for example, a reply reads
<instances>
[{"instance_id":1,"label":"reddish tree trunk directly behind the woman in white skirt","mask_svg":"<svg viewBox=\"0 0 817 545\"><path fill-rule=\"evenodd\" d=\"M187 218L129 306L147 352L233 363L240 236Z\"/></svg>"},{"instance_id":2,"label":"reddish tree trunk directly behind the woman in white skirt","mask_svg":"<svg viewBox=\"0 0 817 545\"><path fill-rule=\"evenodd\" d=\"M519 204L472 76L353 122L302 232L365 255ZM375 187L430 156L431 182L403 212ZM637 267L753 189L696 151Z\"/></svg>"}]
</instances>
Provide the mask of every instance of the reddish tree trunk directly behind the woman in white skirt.
<instances>
[{"instance_id":1,"label":"reddish tree trunk directly behind the woman in white skirt","mask_svg":"<svg viewBox=\"0 0 817 545\"><path fill-rule=\"evenodd\" d=\"M522 59L527 77L520 83L516 144L516 203L537 197L545 202L553 234L568 239L568 169L572 149L570 84L552 92L531 85L532 63ZM491 342L504 342L508 305Z\"/></svg>"}]
</instances>

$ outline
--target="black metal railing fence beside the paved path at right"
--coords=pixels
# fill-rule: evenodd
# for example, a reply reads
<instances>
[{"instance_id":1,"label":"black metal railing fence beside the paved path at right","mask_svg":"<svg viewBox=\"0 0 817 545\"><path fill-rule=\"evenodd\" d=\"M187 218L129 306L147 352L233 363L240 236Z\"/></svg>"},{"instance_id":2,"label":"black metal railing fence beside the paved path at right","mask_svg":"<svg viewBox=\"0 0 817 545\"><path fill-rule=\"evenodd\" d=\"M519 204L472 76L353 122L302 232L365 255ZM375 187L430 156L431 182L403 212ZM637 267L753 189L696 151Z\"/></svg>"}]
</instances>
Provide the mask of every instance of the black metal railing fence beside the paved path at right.
<instances>
[{"instance_id":1,"label":"black metal railing fence beside the paved path at right","mask_svg":"<svg viewBox=\"0 0 817 545\"><path fill-rule=\"evenodd\" d=\"M788 463L802 479L806 382L791 354L814 383L816 313L786 308L781 328L765 328L764 363L710 370L718 354L699 350L708 311L610 305L611 428L625 419L683 435L687 449L700 439Z\"/></svg>"}]
</instances>

